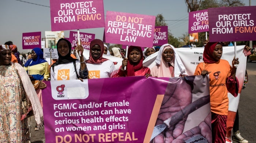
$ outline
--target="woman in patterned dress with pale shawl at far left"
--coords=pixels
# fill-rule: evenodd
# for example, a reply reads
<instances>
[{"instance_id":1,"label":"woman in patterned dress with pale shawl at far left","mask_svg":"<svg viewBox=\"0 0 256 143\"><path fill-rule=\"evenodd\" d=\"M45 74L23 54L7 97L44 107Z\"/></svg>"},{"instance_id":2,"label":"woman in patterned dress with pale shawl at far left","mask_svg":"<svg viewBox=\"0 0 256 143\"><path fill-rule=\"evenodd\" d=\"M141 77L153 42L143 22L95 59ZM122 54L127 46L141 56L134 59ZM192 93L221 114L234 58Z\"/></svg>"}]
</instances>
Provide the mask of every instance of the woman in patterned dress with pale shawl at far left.
<instances>
[{"instance_id":1,"label":"woman in patterned dress with pale shawl at far left","mask_svg":"<svg viewBox=\"0 0 256 143\"><path fill-rule=\"evenodd\" d=\"M43 122L42 107L25 69L11 62L7 45L0 45L0 82L0 143L27 143L30 134L27 119L21 120L22 100L27 99L26 111L32 106L39 126Z\"/></svg>"}]
</instances>

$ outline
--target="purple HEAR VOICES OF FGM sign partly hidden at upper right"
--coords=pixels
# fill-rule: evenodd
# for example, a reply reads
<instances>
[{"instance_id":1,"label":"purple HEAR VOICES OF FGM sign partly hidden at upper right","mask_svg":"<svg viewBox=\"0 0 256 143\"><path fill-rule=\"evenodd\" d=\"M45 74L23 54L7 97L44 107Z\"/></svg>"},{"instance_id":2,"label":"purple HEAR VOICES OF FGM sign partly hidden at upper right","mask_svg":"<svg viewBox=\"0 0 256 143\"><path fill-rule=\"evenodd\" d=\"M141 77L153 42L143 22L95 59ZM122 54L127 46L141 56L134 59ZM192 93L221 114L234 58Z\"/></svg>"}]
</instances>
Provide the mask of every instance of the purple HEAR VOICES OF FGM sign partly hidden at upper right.
<instances>
[{"instance_id":1,"label":"purple HEAR VOICES OF FGM sign partly hidden at upper right","mask_svg":"<svg viewBox=\"0 0 256 143\"><path fill-rule=\"evenodd\" d=\"M189 12L188 16L188 33L209 31L207 9Z\"/></svg>"}]
</instances>

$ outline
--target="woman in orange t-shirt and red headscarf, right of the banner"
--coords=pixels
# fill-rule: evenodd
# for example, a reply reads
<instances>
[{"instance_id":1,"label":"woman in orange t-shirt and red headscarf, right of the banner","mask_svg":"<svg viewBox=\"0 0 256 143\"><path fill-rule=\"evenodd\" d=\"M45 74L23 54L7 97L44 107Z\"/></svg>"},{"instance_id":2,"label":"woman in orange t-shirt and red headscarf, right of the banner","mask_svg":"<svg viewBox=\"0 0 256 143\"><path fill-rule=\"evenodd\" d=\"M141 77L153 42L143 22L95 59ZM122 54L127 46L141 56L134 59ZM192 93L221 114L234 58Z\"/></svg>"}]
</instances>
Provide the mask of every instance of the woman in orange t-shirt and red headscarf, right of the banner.
<instances>
[{"instance_id":1,"label":"woman in orange t-shirt and red headscarf, right of the banner","mask_svg":"<svg viewBox=\"0 0 256 143\"><path fill-rule=\"evenodd\" d=\"M196 67L194 75L209 75L210 79L210 104L212 115L212 142L225 143L226 121L229 108L227 92L233 96L238 94L238 80L236 79L235 64L238 58L233 59L232 67L229 62L221 59L222 44L208 42L203 52L203 61Z\"/></svg>"}]
</instances>

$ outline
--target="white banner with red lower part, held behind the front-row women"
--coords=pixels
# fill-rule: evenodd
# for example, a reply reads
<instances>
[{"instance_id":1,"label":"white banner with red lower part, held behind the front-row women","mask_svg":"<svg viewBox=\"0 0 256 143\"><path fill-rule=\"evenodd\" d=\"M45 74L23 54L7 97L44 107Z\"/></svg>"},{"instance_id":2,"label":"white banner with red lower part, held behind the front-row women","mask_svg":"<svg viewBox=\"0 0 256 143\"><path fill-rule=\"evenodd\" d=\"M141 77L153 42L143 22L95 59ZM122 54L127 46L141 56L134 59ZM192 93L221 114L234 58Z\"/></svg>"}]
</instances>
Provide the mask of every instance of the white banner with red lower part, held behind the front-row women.
<instances>
[{"instance_id":1,"label":"white banner with red lower part, held behind the front-row women","mask_svg":"<svg viewBox=\"0 0 256 143\"><path fill-rule=\"evenodd\" d=\"M229 97L229 113L227 118L227 135L226 135L226 142L231 143L231 130L233 128L234 119L236 116L240 93L242 90L242 83L244 82L244 75L246 69L246 56L243 53L245 45L237 46L237 57L239 60L239 65L236 71L236 77L238 78L239 82L239 91L238 96L235 98L233 95L228 93ZM193 75L195 73L195 69L197 64L203 62L203 51L204 48L176 48L175 50L182 63L184 64L188 75ZM152 68L156 63L155 58L158 52L153 53L152 55L148 56L144 61L143 65L149 68ZM234 58L234 46L223 47L223 53L221 59L229 61L229 64L232 65L232 60Z\"/></svg>"}]
</instances>

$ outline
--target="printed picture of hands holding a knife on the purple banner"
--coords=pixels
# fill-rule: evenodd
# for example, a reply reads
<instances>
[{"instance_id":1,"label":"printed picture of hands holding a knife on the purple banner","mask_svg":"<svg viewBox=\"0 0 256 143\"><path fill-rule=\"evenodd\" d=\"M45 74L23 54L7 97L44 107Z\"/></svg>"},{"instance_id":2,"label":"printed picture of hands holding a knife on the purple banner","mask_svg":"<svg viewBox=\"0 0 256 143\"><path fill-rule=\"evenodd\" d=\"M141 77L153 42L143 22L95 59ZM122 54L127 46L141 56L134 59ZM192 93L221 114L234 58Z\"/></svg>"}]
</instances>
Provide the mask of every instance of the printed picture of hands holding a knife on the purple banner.
<instances>
[{"instance_id":1,"label":"printed picture of hands holding a knife on the purple banner","mask_svg":"<svg viewBox=\"0 0 256 143\"><path fill-rule=\"evenodd\" d=\"M192 92L186 92L185 90L182 90L184 88L187 88L187 89L191 88L191 91L192 91L192 89L194 88L193 86L191 86L193 85L193 80L189 81L187 80L187 78L188 77L183 79L181 78L181 80L178 81L178 84L177 82L176 84L172 84L173 83L172 79L170 79L169 81L170 84L166 88L165 96L162 101L157 122L155 124L153 134L151 136L151 142L153 142L153 139L154 139L154 143L166 143L166 142L185 143L185 140L193 136L196 136L196 134L199 134L202 136L202 133L200 132L200 130L202 130L201 128L206 127L208 128L208 130L210 130L211 128L210 122L209 123L199 122L200 126L196 126L194 128L192 127L192 129L189 130L189 133L188 131L184 131L184 126L188 118L188 115L191 114L193 111L197 110L198 108L210 102L209 95L204 95L203 97L200 96L202 98L192 102ZM210 108L210 105L209 105L209 108ZM211 118L210 115L208 116ZM210 119L207 119L207 121L208 120L210 121ZM192 130L195 132L195 134L193 135L191 134ZM202 137L205 137L205 136L203 135ZM209 139L211 140L211 136L210 138L207 138L207 140Z\"/></svg>"}]
</instances>

